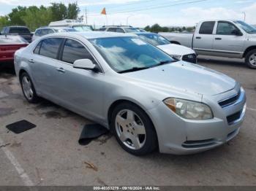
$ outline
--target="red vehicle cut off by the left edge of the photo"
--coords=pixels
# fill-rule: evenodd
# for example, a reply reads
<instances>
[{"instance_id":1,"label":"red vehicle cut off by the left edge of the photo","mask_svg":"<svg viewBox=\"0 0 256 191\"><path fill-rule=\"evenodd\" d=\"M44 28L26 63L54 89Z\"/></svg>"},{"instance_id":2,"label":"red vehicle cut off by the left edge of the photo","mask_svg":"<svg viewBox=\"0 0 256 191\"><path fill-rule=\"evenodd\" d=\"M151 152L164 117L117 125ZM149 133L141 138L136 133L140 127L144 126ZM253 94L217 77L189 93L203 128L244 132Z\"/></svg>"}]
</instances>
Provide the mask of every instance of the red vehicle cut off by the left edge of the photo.
<instances>
[{"instance_id":1,"label":"red vehicle cut off by the left edge of the photo","mask_svg":"<svg viewBox=\"0 0 256 191\"><path fill-rule=\"evenodd\" d=\"M12 62L14 53L21 47L29 44L21 36L0 35L0 65L5 62Z\"/></svg>"}]
</instances>

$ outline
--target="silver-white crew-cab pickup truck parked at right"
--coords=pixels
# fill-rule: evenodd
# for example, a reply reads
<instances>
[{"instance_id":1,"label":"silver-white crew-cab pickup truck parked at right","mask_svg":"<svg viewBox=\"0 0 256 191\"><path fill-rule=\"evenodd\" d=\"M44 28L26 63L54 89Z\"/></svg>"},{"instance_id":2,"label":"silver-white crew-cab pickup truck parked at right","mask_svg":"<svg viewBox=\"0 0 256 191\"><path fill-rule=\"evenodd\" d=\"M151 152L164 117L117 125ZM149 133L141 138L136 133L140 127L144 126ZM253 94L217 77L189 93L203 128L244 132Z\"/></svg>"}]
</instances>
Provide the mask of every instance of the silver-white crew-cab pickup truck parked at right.
<instances>
[{"instance_id":1,"label":"silver-white crew-cab pickup truck parked at right","mask_svg":"<svg viewBox=\"0 0 256 191\"><path fill-rule=\"evenodd\" d=\"M170 42L191 47L198 55L245 58L256 69L256 28L241 20L206 20L195 33L159 33Z\"/></svg>"}]
</instances>

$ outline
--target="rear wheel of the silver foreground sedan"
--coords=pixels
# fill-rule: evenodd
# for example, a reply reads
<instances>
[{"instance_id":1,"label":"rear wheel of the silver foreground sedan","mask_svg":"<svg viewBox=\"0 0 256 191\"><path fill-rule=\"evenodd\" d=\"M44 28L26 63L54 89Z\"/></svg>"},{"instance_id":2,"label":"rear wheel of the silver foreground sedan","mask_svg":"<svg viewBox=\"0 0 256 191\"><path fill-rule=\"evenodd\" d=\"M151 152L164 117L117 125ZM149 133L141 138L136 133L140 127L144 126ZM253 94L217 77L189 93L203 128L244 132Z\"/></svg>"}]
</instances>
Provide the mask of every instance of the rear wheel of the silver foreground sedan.
<instances>
[{"instance_id":1,"label":"rear wheel of the silver foreground sedan","mask_svg":"<svg viewBox=\"0 0 256 191\"><path fill-rule=\"evenodd\" d=\"M34 90L34 85L29 74L26 72L23 72L20 76L20 85L26 100L31 104L37 104L39 102L39 97L37 96L36 90Z\"/></svg>"}]
</instances>

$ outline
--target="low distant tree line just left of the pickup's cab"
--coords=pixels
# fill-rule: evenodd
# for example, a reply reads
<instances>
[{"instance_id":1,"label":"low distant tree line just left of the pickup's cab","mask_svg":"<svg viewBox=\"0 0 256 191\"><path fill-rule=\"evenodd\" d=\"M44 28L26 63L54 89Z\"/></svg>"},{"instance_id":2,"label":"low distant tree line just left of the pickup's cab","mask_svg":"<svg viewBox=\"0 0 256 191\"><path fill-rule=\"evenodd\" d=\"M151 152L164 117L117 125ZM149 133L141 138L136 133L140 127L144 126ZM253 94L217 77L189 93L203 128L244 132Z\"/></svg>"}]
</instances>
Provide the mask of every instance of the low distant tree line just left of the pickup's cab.
<instances>
[{"instance_id":1,"label":"low distant tree line just left of the pickup's cab","mask_svg":"<svg viewBox=\"0 0 256 191\"><path fill-rule=\"evenodd\" d=\"M153 26L146 26L144 28L146 31L151 31L153 33L158 33L158 32L193 32L195 31L195 26L192 27L167 27L167 26L159 26L159 24L154 24Z\"/></svg>"}]
</instances>

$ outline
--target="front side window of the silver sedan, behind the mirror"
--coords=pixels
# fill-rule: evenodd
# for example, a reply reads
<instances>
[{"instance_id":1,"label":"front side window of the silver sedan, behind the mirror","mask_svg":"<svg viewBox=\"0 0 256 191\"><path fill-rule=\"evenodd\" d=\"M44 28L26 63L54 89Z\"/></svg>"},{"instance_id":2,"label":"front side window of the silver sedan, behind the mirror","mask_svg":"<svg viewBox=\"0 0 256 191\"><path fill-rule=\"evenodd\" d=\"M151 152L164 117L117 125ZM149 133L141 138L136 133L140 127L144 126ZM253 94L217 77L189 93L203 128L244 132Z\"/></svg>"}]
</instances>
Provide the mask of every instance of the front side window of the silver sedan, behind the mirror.
<instances>
[{"instance_id":1,"label":"front side window of the silver sedan, behind the mirror","mask_svg":"<svg viewBox=\"0 0 256 191\"><path fill-rule=\"evenodd\" d=\"M62 61L67 63L74 63L76 60L86 58L94 62L94 58L91 56L90 52L86 50L86 48L80 44L80 42L72 39L66 40L61 59Z\"/></svg>"}]
</instances>

